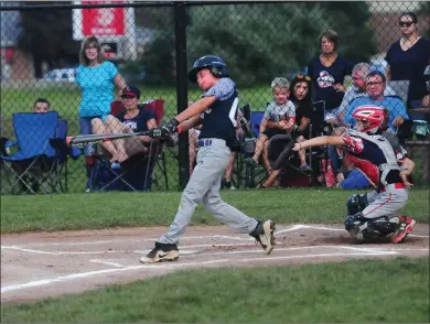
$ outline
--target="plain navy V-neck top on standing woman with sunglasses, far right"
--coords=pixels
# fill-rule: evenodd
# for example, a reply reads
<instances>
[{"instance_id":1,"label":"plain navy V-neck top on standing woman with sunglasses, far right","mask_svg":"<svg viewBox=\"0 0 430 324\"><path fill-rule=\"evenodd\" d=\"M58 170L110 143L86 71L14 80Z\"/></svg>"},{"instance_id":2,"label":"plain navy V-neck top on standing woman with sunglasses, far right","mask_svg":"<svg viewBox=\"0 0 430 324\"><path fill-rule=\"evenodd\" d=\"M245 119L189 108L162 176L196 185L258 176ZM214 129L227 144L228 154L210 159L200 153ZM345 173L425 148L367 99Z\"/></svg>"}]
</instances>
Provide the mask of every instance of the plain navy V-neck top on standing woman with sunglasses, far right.
<instances>
[{"instance_id":1,"label":"plain navy V-neck top on standing woman with sunglasses, far right","mask_svg":"<svg viewBox=\"0 0 430 324\"><path fill-rule=\"evenodd\" d=\"M393 80L409 80L409 100L422 99L428 95L424 69L430 61L430 41L419 39L408 51L401 50L400 41L394 43L385 60L389 64Z\"/></svg>"}]
</instances>

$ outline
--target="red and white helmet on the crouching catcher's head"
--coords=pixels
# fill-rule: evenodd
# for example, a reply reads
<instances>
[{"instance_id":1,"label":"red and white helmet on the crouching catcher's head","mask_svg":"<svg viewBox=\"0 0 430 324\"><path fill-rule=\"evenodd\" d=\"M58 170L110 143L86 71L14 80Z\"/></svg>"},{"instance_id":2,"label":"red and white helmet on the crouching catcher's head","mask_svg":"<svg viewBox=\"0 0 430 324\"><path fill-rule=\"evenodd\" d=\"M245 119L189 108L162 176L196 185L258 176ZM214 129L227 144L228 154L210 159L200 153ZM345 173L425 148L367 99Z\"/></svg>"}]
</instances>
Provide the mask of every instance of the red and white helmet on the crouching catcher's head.
<instances>
[{"instance_id":1,"label":"red and white helmet on the crouching catcher's head","mask_svg":"<svg viewBox=\"0 0 430 324\"><path fill-rule=\"evenodd\" d=\"M368 134L384 131L388 127L388 110L381 107L372 105L359 106L354 110L353 118L366 122L362 127L357 126L357 129Z\"/></svg>"}]
</instances>

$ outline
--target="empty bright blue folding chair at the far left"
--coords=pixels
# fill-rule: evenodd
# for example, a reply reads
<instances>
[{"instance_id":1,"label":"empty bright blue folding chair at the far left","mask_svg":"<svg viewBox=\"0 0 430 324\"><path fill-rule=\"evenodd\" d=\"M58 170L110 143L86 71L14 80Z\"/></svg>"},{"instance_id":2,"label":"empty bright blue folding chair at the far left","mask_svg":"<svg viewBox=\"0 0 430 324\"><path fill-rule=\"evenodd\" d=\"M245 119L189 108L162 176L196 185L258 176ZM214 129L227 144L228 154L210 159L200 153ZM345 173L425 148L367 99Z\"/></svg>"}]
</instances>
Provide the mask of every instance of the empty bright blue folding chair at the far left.
<instances>
[{"instance_id":1,"label":"empty bright blue folding chair at the far left","mask_svg":"<svg viewBox=\"0 0 430 324\"><path fill-rule=\"evenodd\" d=\"M50 193L50 190L61 193L60 154L50 143L56 137L58 114L17 112L12 119L18 151L11 155L0 155L10 193L17 193L19 187L21 192L32 194L39 188L45 193Z\"/></svg>"}]
</instances>

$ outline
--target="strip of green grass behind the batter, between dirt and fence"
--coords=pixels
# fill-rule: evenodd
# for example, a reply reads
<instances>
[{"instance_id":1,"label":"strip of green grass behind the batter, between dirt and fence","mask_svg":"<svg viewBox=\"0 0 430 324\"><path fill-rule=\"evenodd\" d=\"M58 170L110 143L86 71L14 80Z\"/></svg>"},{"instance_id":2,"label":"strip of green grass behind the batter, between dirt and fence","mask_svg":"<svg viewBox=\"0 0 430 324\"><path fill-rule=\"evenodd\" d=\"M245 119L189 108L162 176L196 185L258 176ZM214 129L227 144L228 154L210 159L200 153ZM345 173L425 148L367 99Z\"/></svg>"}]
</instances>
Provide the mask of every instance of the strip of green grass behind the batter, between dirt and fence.
<instances>
[{"instance_id":1,"label":"strip of green grass behind the batter, between dirt and fence","mask_svg":"<svg viewBox=\"0 0 430 324\"><path fill-rule=\"evenodd\" d=\"M342 190L223 191L223 198L260 219L278 223L342 223L346 199ZM100 229L116 226L168 226L181 193L94 193L1 196L1 233L31 230ZM404 213L429 222L429 191L413 190ZM202 207L194 225L219 225Z\"/></svg>"}]
</instances>

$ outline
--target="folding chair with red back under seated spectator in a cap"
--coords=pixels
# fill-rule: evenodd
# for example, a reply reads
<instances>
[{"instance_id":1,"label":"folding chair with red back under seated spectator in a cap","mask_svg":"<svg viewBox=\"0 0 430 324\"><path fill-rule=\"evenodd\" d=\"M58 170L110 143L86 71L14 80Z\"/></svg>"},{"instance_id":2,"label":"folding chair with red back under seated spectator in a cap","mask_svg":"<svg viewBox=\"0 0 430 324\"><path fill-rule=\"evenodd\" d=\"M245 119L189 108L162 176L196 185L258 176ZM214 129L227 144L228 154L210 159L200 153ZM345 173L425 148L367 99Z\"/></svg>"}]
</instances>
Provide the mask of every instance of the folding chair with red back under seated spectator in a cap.
<instances>
[{"instance_id":1,"label":"folding chair with red back under seated spectator in a cap","mask_svg":"<svg viewBox=\"0 0 430 324\"><path fill-rule=\"evenodd\" d=\"M139 109L151 109L155 115L157 125L161 123L164 112L164 100L157 99L139 105ZM119 115L123 109L121 101L111 104L111 115ZM143 143L142 143L143 144ZM109 161L96 154L92 159L88 172L88 187L93 190L149 191L152 182L160 190L160 179L154 173L159 166L165 187L169 188L165 156L161 140L152 140L148 145L148 153L138 153L121 163L121 169L110 168ZM142 177L143 176L143 177Z\"/></svg>"}]
</instances>

